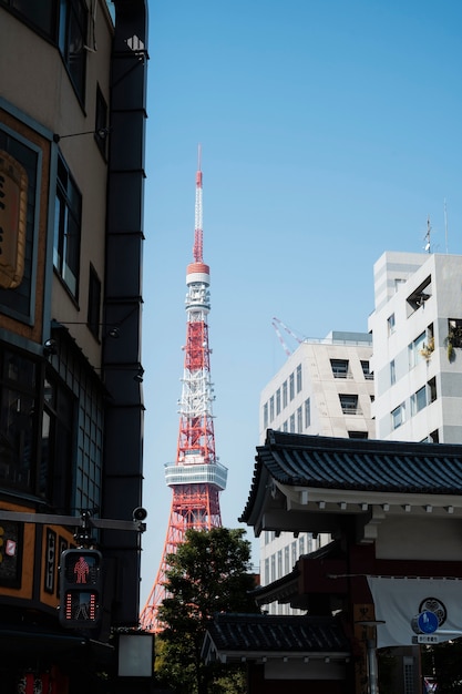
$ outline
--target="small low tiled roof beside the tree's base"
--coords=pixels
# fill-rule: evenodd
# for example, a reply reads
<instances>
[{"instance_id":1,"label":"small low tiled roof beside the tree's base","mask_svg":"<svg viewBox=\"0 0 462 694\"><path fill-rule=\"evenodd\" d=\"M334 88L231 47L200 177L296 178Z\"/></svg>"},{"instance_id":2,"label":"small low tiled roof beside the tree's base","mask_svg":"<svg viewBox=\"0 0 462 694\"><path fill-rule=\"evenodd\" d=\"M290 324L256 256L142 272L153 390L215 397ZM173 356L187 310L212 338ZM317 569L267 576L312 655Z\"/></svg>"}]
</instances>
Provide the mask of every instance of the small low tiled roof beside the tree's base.
<instances>
[{"instance_id":1,"label":"small low tiled roof beside the tree's base","mask_svg":"<svg viewBox=\"0 0 462 694\"><path fill-rule=\"evenodd\" d=\"M208 635L218 652L349 653L335 618L216 614Z\"/></svg>"}]
</instances>

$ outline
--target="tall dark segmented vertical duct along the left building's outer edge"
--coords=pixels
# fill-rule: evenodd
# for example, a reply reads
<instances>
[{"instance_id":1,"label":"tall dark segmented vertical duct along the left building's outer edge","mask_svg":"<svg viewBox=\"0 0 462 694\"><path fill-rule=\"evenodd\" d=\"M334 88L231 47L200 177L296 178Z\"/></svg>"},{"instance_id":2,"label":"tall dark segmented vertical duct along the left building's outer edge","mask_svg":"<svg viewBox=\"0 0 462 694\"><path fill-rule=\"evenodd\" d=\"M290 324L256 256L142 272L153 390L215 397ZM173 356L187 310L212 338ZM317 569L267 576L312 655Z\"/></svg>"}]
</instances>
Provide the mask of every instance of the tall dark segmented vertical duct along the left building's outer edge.
<instances>
[{"instance_id":1,"label":"tall dark segmented vertical duct along the left building's outer edge","mask_svg":"<svg viewBox=\"0 0 462 694\"><path fill-rule=\"evenodd\" d=\"M103 345L104 518L132 520L142 507L144 405L141 361L142 264L147 76L147 0L114 0L111 65ZM103 531L110 567L111 625L137 626L140 533Z\"/></svg>"}]
</instances>

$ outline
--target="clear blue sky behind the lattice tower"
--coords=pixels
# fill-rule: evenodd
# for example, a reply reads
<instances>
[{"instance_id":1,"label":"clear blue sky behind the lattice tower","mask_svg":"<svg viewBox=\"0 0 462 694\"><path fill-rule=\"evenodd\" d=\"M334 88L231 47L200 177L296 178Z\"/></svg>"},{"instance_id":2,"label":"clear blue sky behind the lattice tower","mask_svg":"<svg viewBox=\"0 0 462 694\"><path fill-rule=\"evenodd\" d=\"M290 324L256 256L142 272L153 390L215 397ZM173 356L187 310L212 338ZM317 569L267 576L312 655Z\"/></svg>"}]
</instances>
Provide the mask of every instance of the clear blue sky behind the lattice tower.
<instances>
[{"instance_id":1,"label":"clear blue sky behind the lattice tower","mask_svg":"<svg viewBox=\"0 0 462 694\"><path fill-rule=\"evenodd\" d=\"M259 392L286 358L273 317L305 337L367 331L373 263L423 252L429 215L445 253L444 200L448 248L462 253L461 27L460 0L150 2L143 604L172 498L197 144L222 517L235 528Z\"/></svg>"}]
</instances>

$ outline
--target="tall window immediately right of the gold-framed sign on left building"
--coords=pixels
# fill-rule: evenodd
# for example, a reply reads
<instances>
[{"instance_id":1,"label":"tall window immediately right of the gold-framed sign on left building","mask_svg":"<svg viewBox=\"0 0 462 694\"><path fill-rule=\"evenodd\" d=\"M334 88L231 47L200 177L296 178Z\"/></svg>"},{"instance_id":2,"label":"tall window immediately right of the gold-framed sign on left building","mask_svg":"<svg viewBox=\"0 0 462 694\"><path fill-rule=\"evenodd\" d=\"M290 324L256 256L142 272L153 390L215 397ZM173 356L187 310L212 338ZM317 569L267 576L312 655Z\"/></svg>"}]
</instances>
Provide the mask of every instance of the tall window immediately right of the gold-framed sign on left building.
<instances>
[{"instance_id":1,"label":"tall window immediately right of the gold-framed sign on left building","mask_svg":"<svg viewBox=\"0 0 462 694\"><path fill-rule=\"evenodd\" d=\"M53 265L76 298L79 289L82 196L63 159L58 160Z\"/></svg>"}]
</instances>

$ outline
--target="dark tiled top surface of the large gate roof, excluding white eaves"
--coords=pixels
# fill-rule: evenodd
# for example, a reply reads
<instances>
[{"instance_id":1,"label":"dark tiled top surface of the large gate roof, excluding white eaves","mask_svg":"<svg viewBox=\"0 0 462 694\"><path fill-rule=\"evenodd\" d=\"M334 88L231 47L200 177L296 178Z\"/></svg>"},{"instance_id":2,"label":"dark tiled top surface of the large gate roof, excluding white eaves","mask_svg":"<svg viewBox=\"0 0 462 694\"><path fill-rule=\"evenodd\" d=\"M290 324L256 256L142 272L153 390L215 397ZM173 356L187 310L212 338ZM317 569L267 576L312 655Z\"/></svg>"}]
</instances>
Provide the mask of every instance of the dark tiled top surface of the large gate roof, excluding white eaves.
<instances>
[{"instance_id":1,"label":"dark tiled top surface of the large gate roof, excluding white eaves","mask_svg":"<svg viewBox=\"0 0 462 694\"><path fill-rule=\"evenodd\" d=\"M263 470L283 484L311 488L462 493L462 446L301 436L268 429L257 447L248 520Z\"/></svg>"}]
</instances>

